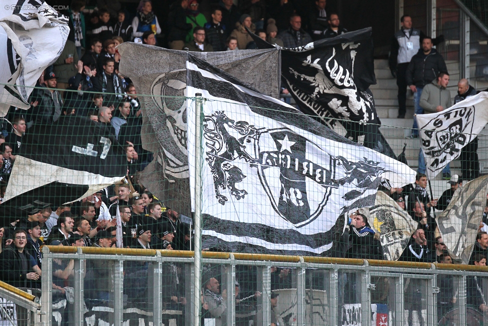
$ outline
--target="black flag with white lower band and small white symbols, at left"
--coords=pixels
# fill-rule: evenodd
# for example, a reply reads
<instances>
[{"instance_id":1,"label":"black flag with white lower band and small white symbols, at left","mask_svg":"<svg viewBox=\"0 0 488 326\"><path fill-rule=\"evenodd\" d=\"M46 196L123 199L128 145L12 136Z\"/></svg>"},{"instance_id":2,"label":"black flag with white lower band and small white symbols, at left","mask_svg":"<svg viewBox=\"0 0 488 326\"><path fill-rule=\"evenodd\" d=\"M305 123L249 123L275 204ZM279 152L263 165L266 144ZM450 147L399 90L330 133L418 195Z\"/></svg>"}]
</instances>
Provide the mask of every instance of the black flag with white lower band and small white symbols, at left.
<instances>
[{"instance_id":1,"label":"black flag with white lower band and small white symbols, at left","mask_svg":"<svg viewBox=\"0 0 488 326\"><path fill-rule=\"evenodd\" d=\"M126 173L125 152L105 124L61 116L22 137L5 200L54 181L88 185L87 196L120 181Z\"/></svg>"}]
</instances>

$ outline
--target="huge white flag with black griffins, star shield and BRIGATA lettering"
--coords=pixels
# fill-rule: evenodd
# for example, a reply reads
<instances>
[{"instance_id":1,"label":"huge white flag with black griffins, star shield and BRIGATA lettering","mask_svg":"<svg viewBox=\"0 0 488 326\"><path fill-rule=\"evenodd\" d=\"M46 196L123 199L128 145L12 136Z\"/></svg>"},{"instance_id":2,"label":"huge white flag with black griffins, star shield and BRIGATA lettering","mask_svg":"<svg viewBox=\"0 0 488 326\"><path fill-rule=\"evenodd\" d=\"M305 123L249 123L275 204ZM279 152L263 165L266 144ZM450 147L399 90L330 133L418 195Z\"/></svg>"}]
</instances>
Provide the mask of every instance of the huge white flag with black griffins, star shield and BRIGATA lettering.
<instances>
[{"instance_id":1,"label":"huge white flag with black griffins, star shield and BRIGATA lettering","mask_svg":"<svg viewBox=\"0 0 488 326\"><path fill-rule=\"evenodd\" d=\"M204 98L201 144L194 101L186 107L192 204L195 151L203 150L203 247L322 254L333 245L337 218L374 205L380 183L413 182L408 166L189 58L187 96Z\"/></svg>"}]
</instances>

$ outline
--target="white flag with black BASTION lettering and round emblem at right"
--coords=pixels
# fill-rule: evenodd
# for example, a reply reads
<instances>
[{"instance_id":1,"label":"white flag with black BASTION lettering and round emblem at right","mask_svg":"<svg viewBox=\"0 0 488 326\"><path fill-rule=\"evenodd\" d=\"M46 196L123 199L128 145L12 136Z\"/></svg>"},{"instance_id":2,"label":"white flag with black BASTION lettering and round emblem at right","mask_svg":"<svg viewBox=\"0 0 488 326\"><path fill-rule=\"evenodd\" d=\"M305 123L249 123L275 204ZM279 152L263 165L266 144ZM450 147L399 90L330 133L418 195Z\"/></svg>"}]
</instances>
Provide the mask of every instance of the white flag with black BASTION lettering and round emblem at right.
<instances>
[{"instance_id":1,"label":"white flag with black BASTION lettering and round emblem at right","mask_svg":"<svg viewBox=\"0 0 488 326\"><path fill-rule=\"evenodd\" d=\"M461 149L473 140L488 122L488 92L469 97L436 113L415 116L426 175L435 177Z\"/></svg>"}]
</instances>

